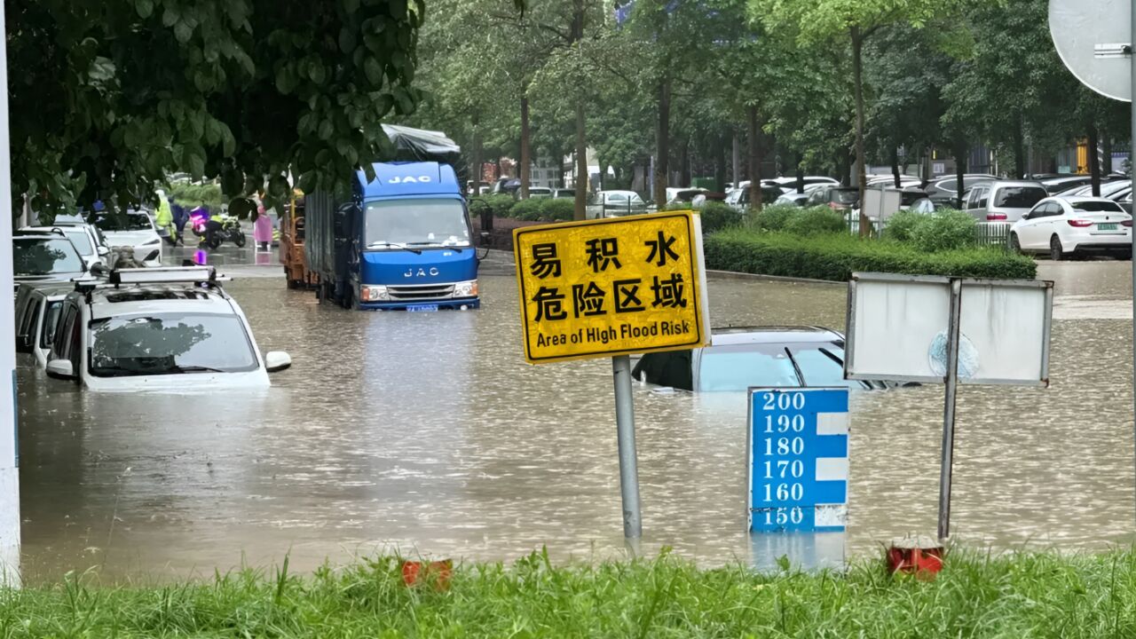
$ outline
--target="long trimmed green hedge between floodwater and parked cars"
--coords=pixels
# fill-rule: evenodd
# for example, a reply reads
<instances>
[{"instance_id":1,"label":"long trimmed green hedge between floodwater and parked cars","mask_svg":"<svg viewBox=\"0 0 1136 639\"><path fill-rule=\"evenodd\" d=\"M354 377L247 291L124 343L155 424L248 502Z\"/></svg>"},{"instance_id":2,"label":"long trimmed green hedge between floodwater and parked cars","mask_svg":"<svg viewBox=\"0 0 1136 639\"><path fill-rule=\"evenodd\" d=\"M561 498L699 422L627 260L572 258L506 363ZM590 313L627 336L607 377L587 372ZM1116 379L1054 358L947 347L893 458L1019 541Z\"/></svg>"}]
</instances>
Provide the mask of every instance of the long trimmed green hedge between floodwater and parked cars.
<instances>
[{"instance_id":1,"label":"long trimmed green hedge between floodwater and parked cars","mask_svg":"<svg viewBox=\"0 0 1136 639\"><path fill-rule=\"evenodd\" d=\"M707 268L761 275L845 282L853 272L1024 279L1037 273L1034 260L993 248L925 252L891 240L847 234L802 238L728 229L703 240Z\"/></svg>"}]
</instances>

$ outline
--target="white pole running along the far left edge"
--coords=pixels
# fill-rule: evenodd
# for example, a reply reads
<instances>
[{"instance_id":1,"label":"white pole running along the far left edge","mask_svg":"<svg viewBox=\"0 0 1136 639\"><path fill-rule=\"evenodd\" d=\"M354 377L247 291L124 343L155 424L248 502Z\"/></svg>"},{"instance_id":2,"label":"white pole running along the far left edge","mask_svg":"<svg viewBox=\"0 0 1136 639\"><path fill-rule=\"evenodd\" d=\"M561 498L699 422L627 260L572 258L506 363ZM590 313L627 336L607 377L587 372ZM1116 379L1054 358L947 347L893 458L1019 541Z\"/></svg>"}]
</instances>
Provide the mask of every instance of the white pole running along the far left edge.
<instances>
[{"instance_id":1,"label":"white pole running along the far left edge","mask_svg":"<svg viewBox=\"0 0 1136 639\"><path fill-rule=\"evenodd\" d=\"M5 28L3 0L0 0L0 33ZM16 423L16 334L15 300L8 297L11 274L11 160L8 146L8 51L0 39L0 587L19 586L19 450Z\"/></svg>"}]
</instances>

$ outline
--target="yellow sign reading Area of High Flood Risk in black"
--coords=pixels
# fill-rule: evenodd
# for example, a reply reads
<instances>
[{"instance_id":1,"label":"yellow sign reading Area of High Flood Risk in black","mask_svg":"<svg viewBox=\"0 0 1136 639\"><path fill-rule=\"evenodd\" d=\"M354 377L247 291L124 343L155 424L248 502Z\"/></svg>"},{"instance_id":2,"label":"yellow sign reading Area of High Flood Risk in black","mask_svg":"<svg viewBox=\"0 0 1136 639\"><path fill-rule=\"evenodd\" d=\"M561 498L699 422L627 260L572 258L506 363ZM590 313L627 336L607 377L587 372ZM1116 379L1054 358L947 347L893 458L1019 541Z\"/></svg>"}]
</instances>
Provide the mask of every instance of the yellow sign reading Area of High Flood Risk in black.
<instances>
[{"instance_id":1,"label":"yellow sign reading Area of High Flood Risk in black","mask_svg":"<svg viewBox=\"0 0 1136 639\"><path fill-rule=\"evenodd\" d=\"M709 342L699 218L670 211L513 231L533 364Z\"/></svg>"}]
</instances>

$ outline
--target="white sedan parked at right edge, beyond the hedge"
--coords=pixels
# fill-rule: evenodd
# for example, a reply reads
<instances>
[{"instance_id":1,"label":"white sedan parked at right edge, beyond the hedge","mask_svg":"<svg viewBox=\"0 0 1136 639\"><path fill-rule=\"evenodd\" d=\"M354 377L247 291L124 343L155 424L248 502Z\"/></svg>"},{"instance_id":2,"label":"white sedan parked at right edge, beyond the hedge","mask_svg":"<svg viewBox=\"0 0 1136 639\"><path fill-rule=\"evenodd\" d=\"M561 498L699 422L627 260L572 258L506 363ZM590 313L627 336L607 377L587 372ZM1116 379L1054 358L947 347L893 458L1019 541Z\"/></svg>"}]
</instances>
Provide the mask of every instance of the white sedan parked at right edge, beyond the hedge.
<instances>
[{"instance_id":1,"label":"white sedan parked at right edge, beyond the hedge","mask_svg":"<svg viewBox=\"0 0 1136 639\"><path fill-rule=\"evenodd\" d=\"M1131 256L1133 218L1105 198L1045 198L1010 227L1010 247L1053 259L1089 252Z\"/></svg>"}]
</instances>

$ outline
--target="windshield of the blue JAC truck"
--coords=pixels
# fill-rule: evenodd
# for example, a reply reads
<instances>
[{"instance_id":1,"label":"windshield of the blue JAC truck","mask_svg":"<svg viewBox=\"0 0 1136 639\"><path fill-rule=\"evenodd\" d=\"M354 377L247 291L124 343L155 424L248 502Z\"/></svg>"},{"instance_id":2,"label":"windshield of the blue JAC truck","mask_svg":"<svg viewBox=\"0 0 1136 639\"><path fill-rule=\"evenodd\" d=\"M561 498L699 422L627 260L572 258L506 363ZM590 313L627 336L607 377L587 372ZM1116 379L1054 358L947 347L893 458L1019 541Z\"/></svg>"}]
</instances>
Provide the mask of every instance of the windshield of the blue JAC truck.
<instances>
[{"instance_id":1,"label":"windshield of the blue JAC truck","mask_svg":"<svg viewBox=\"0 0 1136 639\"><path fill-rule=\"evenodd\" d=\"M469 225L458 200L386 200L367 204L367 248L384 246L468 247Z\"/></svg>"}]
</instances>

